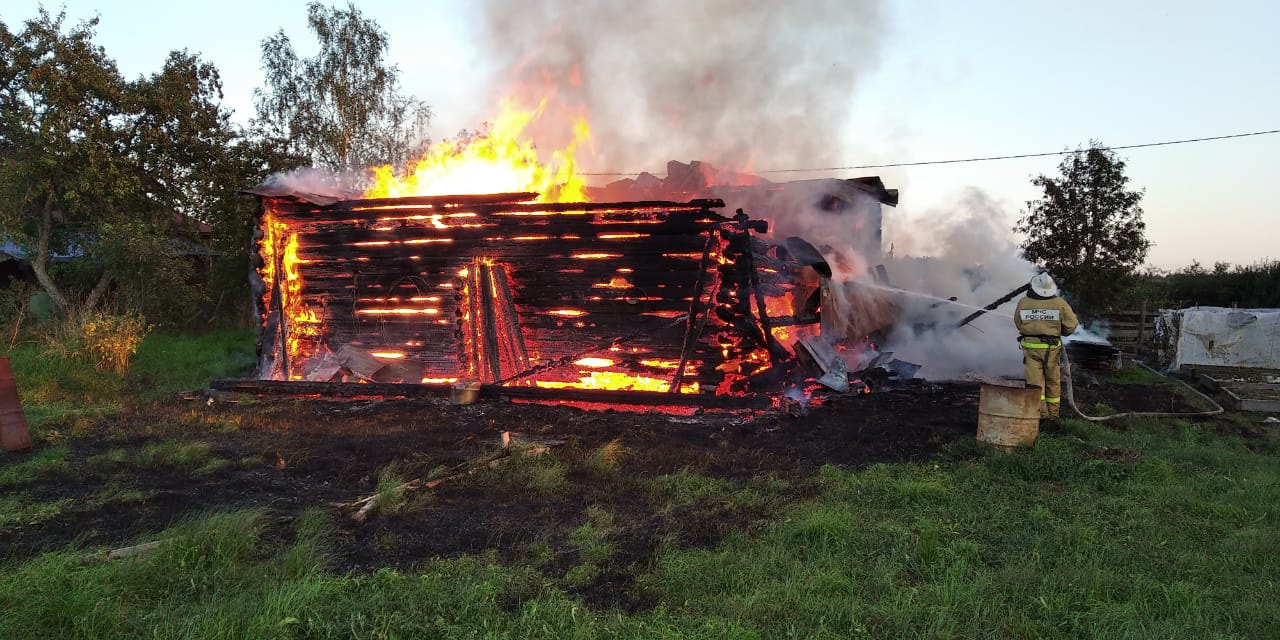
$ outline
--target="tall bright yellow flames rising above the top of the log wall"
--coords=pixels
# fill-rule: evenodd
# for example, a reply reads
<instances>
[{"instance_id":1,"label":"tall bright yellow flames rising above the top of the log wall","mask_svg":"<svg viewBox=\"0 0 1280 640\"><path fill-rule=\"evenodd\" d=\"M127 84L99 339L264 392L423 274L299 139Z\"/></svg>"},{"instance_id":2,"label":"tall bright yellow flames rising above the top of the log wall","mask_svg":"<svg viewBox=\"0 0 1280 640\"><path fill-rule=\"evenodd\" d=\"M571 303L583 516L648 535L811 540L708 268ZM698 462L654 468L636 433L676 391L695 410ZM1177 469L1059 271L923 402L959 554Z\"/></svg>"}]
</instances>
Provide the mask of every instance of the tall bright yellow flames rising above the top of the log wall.
<instances>
[{"instance_id":1,"label":"tall bright yellow flames rising above the top of the log wall","mask_svg":"<svg viewBox=\"0 0 1280 640\"><path fill-rule=\"evenodd\" d=\"M575 119L572 141L544 161L526 128L545 108L545 100L538 109L504 101L483 136L431 146L402 177L390 165L375 168L375 183L365 197L535 192L541 202L585 202L586 184L577 174L575 152L590 138L590 127L586 119Z\"/></svg>"}]
</instances>

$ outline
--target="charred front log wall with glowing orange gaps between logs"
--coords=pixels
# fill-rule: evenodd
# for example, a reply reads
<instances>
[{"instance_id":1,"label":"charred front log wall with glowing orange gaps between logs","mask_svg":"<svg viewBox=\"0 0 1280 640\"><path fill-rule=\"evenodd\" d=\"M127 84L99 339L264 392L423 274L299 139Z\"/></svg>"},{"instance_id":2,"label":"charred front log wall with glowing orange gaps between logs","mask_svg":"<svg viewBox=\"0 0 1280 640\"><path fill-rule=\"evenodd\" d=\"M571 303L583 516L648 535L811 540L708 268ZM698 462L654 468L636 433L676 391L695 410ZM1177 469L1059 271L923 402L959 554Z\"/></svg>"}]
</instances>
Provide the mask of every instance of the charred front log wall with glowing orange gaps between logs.
<instances>
[{"instance_id":1,"label":"charred front log wall with glowing orange gaps between logs","mask_svg":"<svg viewBox=\"0 0 1280 640\"><path fill-rule=\"evenodd\" d=\"M722 204L520 200L264 197L260 375L317 379L343 347L394 365L385 381L671 380L684 361L684 390L712 393L732 375L740 337L710 312Z\"/></svg>"}]
</instances>

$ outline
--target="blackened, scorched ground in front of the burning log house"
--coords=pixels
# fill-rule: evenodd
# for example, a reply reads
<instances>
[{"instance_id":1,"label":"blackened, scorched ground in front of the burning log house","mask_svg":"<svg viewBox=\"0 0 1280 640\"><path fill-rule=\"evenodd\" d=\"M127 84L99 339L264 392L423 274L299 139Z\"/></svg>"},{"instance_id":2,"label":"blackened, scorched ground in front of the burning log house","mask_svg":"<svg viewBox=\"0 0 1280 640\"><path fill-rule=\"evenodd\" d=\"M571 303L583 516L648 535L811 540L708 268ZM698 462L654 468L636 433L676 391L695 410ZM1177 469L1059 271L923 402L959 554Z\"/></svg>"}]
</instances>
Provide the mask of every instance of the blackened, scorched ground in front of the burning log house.
<instances>
[{"instance_id":1,"label":"blackened, scorched ground in front of the burning log house","mask_svg":"<svg viewBox=\"0 0 1280 640\"><path fill-rule=\"evenodd\" d=\"M1138 403L1146 389L1116 393ZM1105 393L1084 402L1138 408ZM1164 399L1152 402L1164 408ZM659 545L713 545L759 526L813 490L812 471L823 465L947 456L950 444L972 438L977 413L978 389L963 384L835 397L804 417L512 402L174 402L44 425L46 440L65 438L64 462L0 483L0 499L18 495L23 506L60 508L29 522L0 518L0 558L68 544L122 547L210 509L260 508L285 525L321 508L337 527L332 552L339 571L492 553L566 576L603 538L612 552L571 588L589 602L644 607L643 594L628 586ZM500 451L502 431L556 445L476 466ZM0 458L0 477L8 466L56 458L51 447ZM476 471L457 477L470 468ZM376 493L388 470L401 480L454 479L412 492L365 524L349 517L355 509L337 506ZM758 489L749 492L756 498L741 499L741 489ZM590 535L585 522L593 524ZM289 535L291 527L279 529Z\"/></svg>"}]
</instances>

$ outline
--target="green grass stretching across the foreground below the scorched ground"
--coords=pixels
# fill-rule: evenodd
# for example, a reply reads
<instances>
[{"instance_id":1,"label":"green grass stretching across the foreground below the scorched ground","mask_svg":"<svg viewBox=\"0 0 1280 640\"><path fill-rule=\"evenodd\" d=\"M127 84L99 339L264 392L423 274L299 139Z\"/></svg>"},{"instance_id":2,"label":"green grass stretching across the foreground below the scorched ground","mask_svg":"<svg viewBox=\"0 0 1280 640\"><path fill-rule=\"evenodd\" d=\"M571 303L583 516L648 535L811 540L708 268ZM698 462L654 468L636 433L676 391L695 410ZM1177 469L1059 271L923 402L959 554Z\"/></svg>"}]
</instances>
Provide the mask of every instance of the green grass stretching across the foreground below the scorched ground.
<instances>
[{"instance_id":1,"label":"green grass stretching across the foreground below the scorched ground","mask_svg":"<svg viewBox=\"0 0 1280 640\"><path fill-rule=\"evenodd\" d=\"M571 531L577 562L559 576L541 571L549 547L522 566L338 573L321 515L280 535L261 512L232 512L161 534L172 541L145 558L86 566L73 548L0 567L0 637L1274 636L1275 434L1252 451L1179 421L1062 431L1012 454L957 443L951 462L828 466L795 493L769 477L655 479L669 508L792 499L717 547L667 544L635 586L654 607L635 613L570 594L616 553L625 522L600 506ZM495 476L559 468L538 458Z\"/></svg>"}]
</instances>

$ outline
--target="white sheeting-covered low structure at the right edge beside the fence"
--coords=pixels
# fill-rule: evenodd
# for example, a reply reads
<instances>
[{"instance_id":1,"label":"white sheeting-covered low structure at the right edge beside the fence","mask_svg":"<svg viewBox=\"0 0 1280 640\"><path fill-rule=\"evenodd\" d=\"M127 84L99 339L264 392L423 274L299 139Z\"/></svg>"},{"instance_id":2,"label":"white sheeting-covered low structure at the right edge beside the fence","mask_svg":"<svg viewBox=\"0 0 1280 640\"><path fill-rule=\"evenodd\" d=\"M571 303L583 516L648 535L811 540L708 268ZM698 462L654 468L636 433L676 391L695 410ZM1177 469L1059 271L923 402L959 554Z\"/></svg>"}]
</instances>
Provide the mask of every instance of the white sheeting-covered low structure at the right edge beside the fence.
<instances>
[{"instance_id":1,"label":"white sheeting-covered low structure at the right edge beside the fence","mask_svg":"<svg viewBox=\"0 0 1280 640\"><path fill-rule=\"evenodd\" d=\"M1166 308L1160 312L1156 335L1169 346L1169 369L1280 369L1280 308Z\"/></svg>"}]
</instances>

